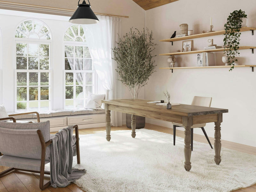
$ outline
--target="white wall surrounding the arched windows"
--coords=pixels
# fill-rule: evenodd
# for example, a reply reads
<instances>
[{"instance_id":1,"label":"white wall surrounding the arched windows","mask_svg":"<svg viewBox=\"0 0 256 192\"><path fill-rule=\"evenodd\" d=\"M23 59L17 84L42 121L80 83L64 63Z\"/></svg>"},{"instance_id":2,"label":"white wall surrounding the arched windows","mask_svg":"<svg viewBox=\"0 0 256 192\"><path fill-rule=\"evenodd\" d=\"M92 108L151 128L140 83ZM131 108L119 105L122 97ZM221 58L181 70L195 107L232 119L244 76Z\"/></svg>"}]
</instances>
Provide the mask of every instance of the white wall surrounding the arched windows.
<instances>
[{"instance_id":1,"label":"white wall surrounding the arched windows","mask_svg":"<svg viewBox=\"0 0 256 192\"><path fill-rule=\"evenodd\" d=\"M15 1L12 1L15 2ZM16 1L17 3L36 4L38 2ZM62 2L62 1L61 1ZM59 2L59 3L61 3ZM40 2L39 2L40 3ZM72 4L72 6L70 6ZM145 21L145 11L131 0L115 1L93 1L92 10L94 12L108 13L114 15L125 15L130 18L122 20L122 36L128 32L131 27L142 29ZM77 1L67 1L63 4L52 4L52 1L44 1L43 6L58 7L65 5L66 9L76 9ZM14 69L15 69L15 43L14 34L17 25L27 18L39 18L43 20L51 29L53 35L53 109L63 108L63 37L64 32L71 25L68 22L69 17L47 15L28 12L14 12L9 10L0 10L0 28L3 32L3 104L8 112L14 111ZM1 69L1 68L0 68ZM60 72L60 70L62 72ZM2 82L2 81L1 81ZM7 83L8 82L8 83ZM1 90L0 90L1 91ZM144 93L144 92L143 92ZM2 92L1 92L2 94ZM129 97L127 89L121 84L118 85L119 98ZM144 94L143 94L144 97ZM58 98L58 99L56 99ZM0 97L1 99L1 97Z\"/></svg>"}]
</instances>

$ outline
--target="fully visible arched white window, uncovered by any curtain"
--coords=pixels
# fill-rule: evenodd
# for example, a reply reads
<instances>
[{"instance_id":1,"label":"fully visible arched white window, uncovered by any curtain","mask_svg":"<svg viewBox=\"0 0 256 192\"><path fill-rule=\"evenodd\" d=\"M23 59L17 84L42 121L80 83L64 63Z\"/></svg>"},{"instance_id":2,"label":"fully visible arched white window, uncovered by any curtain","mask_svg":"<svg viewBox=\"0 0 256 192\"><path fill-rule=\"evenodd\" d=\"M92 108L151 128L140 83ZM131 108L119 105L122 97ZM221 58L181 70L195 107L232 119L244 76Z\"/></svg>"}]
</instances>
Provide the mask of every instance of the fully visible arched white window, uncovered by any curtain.
<instances>
[{"instance_id":1,"label":"fully visible arched white window, uncovered by any curtain","mask_svg":"<svg viewBox=\"0 0 256 192\"><path fill-rule=\"evenodd\" d=\"M37 19L20 23L15 33L15 111L50 110L52 35Z\"/></svg>"}]
</instances>

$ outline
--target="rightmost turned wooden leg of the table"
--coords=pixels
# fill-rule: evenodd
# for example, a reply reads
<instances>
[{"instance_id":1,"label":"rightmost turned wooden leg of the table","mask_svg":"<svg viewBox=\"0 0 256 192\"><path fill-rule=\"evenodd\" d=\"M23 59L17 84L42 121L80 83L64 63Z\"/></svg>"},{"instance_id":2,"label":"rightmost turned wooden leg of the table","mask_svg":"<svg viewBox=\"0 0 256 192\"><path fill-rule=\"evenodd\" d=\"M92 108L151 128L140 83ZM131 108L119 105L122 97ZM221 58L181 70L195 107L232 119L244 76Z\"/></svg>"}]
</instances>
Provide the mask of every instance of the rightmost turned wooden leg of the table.
<instances>
[{"instance_id":1,"label":"rightmost turned wooden leg of the table","mask_svg":"<svg viewBox=\"0 0 256 192\"><path fill-rule=\"evenodd\" d=\"M221 150L221 141L220 141L220 138L221 138L221 134L220 134L220 124L222 122L222 113L221 114L218 114L218 121L217 122L214 122L215 124L215 127L214 127L214 130L215 130L215 134L214 134L214 150L215 150L215 156L214 156L214 161L217 165L220 164L221 162L221 156L220 156L220 150Z\"/></svg>"}]
</instances>

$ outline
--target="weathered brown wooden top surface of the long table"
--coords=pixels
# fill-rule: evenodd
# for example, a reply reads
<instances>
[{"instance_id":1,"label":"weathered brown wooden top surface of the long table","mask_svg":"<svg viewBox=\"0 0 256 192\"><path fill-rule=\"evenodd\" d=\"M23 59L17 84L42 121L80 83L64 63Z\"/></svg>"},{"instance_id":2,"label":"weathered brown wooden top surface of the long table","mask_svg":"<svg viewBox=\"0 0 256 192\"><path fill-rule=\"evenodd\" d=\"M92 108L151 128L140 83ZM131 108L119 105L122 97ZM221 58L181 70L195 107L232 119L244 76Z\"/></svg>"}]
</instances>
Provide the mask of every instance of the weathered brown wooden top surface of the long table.
<instances>
[{"instance_id":1,"label":"weathered brown wooden top surface of the long table","mask_svg":"<svg viewBox=\"0 0 256 192\"><path fill-rule=\"evenodd\" d=\"M151 100L140 99L119 99L119 100L102 100L102 103L106 103L113 106L119 106L124 108L134 108L140 110L151 111L154 113L165 113L170 115L180 116L199 116L209 114L228 113L228 109L202 107L195 105L180 104L178 106L172 106L172 109L166 109L166 106L156 105L156 103L148 103ZM125 110L124 110L125 112Z\"/></svg>"}]
</instances>

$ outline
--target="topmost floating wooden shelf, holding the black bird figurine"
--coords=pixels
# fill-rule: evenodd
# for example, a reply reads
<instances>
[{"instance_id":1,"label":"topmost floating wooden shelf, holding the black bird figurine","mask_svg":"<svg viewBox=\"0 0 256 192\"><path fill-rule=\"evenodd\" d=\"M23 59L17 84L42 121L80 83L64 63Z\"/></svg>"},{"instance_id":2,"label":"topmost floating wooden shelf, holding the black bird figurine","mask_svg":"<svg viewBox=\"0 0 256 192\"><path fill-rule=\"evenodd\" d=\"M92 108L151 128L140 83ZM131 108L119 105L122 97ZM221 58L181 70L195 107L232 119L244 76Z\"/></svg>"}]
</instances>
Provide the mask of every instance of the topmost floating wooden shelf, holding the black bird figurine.
<instances>
[{"instance_id":1,"label":"topmost floating wooden shelf, holding the black bird figurine","mask_svg":"<svg viewBox=\"0 0 256 192\"><path fill-rule=\"evenodd\" d=\"M252 31L252 35L253 35L253 30L256 30L256 28L242 27L240 29L241 32L250 31L250 30ZM174 37L172 39L163 39L163 40L160 40L160 41L173 42L173 41L181 41L181 40L187 40L187 39L195 39L195 38L200 38L200 37L223 35L224 33L225 33L225 30L221 30L221 31L214 31L214 32L209 32L209 33L200 33L200 34L196 34L196 35L189 35L189 36L184 36L184 37Z\"/></svg>"}]
</instances>

